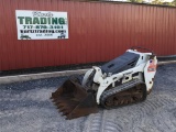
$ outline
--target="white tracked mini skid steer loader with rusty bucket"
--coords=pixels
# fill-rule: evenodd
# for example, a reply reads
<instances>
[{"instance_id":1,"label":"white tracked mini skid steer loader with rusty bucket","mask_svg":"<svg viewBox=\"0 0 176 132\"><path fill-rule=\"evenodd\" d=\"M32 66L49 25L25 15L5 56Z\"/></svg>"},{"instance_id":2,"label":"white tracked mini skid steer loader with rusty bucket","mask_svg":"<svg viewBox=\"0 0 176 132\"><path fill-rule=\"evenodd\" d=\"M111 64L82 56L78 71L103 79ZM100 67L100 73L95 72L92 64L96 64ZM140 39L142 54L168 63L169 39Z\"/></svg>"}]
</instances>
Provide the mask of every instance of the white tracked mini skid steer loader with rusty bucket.
<instances>
[{"instance_id":1,"label":"white tracked mini skid steer loader with rusty bucket","mask_svg":"<svg viewBox=\"0 0 176 132\"><path fill-rule=\"evenodd\" d=\"M53 92L51 98L63 116L74 119L96 113L100 106L111 109L145 100L153 88L157 59L153 52L135 48L100 67L94 66L82 80L70 77Z\"/></svg>"}]
</instances>

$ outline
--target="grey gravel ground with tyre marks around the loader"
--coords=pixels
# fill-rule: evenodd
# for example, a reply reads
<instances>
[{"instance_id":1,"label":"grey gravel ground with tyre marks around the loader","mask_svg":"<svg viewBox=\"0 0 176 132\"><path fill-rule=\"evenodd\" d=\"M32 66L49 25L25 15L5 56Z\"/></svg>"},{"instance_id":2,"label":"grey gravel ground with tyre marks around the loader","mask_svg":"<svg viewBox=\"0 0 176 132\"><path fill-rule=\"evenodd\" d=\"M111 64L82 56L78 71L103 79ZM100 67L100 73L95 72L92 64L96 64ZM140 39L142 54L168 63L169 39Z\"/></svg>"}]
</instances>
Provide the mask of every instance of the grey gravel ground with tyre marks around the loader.
<instances>
[{"instance_id":1,"label":"grey gravel ground with tyre marks around the loader","mask_svg":"<svg viewBox=\"0 0 176 132\"><path fill-rule=\"evenodd\" d=\"M0 132L176 132L176 64L144 102L65 120L48 99L67 77L0 85Z\"/></svg>"}]
</instances>

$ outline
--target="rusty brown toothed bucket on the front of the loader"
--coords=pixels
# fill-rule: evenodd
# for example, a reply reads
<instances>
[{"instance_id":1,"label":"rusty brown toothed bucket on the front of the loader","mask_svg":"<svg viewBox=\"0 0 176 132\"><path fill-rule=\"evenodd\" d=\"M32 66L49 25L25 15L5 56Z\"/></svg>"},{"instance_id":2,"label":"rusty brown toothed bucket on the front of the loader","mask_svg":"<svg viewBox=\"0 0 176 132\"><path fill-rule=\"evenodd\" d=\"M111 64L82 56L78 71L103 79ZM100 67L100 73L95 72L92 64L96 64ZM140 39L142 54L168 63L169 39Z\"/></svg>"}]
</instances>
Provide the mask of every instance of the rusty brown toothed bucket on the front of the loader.
<instances>
[{"instance_id":1,"label":"rusty brown toothed bucket on the front of the loader","mask_svg":"<svg viewBox=\"0 0 176 132\"><path fill-rule=\"evenodd\" d=\"M66 119L84 117L98 112L97 102L91 92L74 80L66 80L52 94L53 102L57 106Z\"/></svg>"}]
</instances>

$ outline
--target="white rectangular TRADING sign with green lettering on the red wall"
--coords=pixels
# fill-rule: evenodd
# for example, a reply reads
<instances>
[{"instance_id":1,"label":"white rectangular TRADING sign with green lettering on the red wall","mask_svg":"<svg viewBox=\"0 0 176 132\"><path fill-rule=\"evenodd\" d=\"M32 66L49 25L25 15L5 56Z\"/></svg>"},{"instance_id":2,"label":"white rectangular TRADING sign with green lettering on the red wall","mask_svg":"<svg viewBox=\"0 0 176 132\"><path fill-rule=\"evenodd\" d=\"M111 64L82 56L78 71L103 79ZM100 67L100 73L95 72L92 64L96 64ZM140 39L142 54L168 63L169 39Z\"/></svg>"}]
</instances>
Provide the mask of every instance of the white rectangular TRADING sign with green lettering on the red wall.
<instances>
[{"instance_id":1,"label":"white rectangular TRADING sign with green lettering on the red wall","mask_svg":"<svg viewBox=\"0 0 176 132\"><path fill-rule=\"evenodd\" d=\"M16 10L18 40L68 38L67 12Z\"/></svg>"}]
</instances>

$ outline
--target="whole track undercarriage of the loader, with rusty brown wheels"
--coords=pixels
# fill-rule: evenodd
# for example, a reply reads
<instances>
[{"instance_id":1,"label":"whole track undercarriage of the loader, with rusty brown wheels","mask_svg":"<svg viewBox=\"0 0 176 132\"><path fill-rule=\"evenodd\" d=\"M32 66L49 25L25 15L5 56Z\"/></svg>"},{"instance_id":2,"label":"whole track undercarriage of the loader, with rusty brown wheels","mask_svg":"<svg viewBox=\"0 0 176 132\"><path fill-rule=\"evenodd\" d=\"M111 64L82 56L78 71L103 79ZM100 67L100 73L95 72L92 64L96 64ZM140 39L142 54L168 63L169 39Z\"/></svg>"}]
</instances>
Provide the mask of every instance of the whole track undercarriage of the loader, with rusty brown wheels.
<instances>
[{"instance_id":1,"label":"whole track undercarriage of the loader, with rusty brown wheels","mask_svg":"<svg viewBox=\"0 0 176 132\"><path fill-rule=\"evenodd\" d=\"M101 106L107 109L118 108L143 101L145 98L145 84L135 79L106 90L101 96Z\"/></svg>"}]
</instances>

